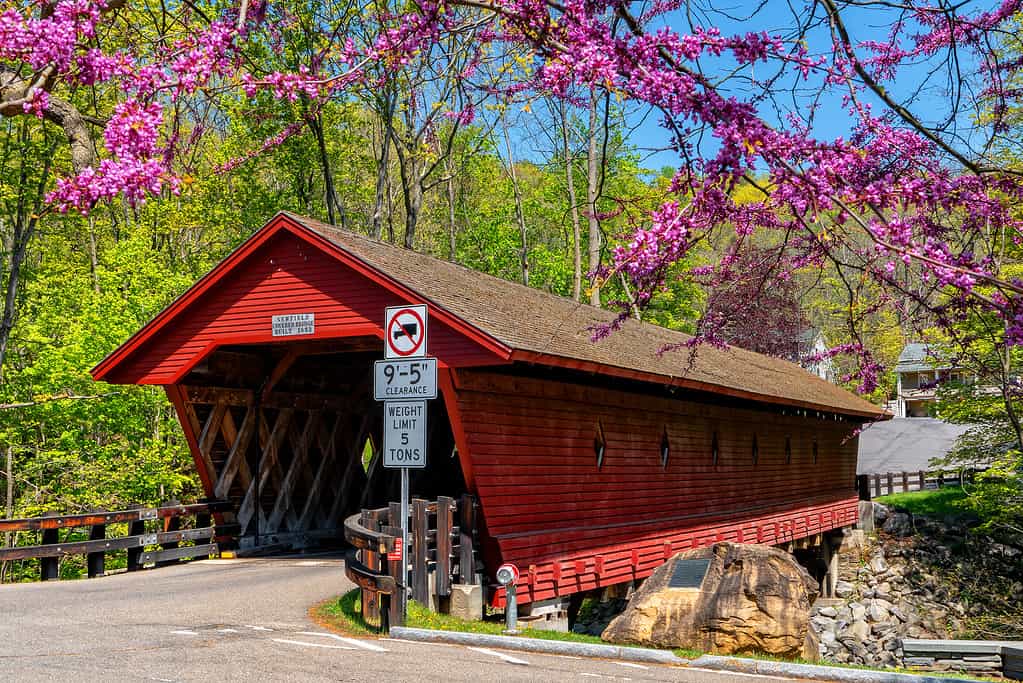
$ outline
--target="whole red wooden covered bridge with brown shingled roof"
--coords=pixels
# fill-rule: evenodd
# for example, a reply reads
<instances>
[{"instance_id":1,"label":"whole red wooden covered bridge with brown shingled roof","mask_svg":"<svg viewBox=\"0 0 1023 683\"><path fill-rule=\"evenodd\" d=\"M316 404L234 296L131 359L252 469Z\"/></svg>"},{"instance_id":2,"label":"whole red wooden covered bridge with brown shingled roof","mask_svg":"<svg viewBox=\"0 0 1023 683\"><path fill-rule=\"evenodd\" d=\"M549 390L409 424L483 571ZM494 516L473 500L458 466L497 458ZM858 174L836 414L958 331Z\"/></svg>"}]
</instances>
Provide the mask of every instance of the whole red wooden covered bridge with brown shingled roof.
<instances>
[{"instance_id":1,"label":"whole red wooden covered bridge with brown shingled roof","mask_svg":"<svg viewBox=\"0 0 1023 683\"><path fill-rule=\"evenodd\" d=\"M243 537L339 539L346 515L397 500L371 369L399 304L430 306L443 394L412 493L476 496L486 574L523 567L524 602L722 539L788 543L856 520L850 435L876 406L738 349L702 347L687 367L658 352L688 337L631 320L593 343L614 314L292 214L93 374L166 389ZM311 329L275 336L287 314L313 314Z\"/></svg>"}]
</instances>

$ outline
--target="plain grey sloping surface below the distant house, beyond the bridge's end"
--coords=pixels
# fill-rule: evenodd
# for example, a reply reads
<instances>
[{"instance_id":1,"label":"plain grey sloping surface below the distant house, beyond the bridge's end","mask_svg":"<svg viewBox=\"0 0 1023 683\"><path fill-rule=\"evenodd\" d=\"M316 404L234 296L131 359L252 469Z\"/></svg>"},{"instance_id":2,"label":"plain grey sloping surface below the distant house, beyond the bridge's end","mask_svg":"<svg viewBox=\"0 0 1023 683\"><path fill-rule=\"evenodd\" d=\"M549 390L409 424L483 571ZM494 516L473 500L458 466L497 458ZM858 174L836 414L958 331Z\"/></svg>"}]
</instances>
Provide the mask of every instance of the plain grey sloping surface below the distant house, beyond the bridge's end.
<instances>
[{"instance_id":1,"label":"plain grey sloping surface below the distant house, beyond the bridge's end","mask_svg":"<svg viewBox=\"0 0 1023 683\"><path fill-rule=\"evenodd\" d=\"M930 469L931 458L947 455L969 424L931 417L897 417L872 424L859 435L857 474Z\"/></svg>"}]
</instances>

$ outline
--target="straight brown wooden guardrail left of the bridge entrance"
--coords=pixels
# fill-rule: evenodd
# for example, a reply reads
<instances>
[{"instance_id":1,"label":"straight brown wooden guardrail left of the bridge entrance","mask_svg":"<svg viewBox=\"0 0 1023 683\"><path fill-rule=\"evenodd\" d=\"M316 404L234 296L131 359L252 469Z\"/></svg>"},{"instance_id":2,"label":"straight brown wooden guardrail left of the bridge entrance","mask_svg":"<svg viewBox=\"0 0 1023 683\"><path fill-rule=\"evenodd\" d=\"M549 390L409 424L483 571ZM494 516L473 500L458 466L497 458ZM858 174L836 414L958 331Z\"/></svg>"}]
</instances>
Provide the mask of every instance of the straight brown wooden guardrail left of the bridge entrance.
<instances>
[{"instance_id":1,"label":"straight brown wooden guardrail left of the bridge entrance","mask_svg":"<svg viewBox=\"0 0 1023 683\"><path fill-rule=\"evenodd\" d=\"M24 519L0 519L0 533L41 532L39 545L0 548L0 561L39 559L39 578L50 581L59 578L59 559L68 555L85 555L89 578L105 572L105 553L128 550L128 571L148 564L162 565L186 557L209 557L218 553L218 540L237 533L235 525L212 523L212 515L229 510L226 501L211 501L191 505L168 503L161 507L138 507L116 512L85 514L48 513ZM182 529L183 517L194 517L190 528ZM107 538L107 526L127 523L128 534ZM89 530L86 541L60 540L61 530ZM182 542L194 545L181 546Z\"/></svg>"}]
</instances>

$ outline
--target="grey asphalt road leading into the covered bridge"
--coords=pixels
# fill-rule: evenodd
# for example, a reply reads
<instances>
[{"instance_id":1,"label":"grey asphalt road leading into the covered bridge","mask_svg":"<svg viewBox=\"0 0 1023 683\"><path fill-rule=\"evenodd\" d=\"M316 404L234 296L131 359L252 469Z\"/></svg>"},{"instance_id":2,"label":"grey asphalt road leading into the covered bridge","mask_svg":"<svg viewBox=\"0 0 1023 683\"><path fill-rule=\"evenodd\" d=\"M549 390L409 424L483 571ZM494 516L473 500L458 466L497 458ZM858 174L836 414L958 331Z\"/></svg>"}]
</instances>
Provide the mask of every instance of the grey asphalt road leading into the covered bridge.
<instances>
[{"instance_id":1,"label":"grey asphalt road leading into the covered bridge","mask_svg":"<svg viewBox=\"0 0 1023 683\"><path fill-rule=\"evenodd\" d=\"M330 634L310 605L351 588L326 556L205 560L0 586L2 681L784 679Z\"/></svg>"}]
</instances>

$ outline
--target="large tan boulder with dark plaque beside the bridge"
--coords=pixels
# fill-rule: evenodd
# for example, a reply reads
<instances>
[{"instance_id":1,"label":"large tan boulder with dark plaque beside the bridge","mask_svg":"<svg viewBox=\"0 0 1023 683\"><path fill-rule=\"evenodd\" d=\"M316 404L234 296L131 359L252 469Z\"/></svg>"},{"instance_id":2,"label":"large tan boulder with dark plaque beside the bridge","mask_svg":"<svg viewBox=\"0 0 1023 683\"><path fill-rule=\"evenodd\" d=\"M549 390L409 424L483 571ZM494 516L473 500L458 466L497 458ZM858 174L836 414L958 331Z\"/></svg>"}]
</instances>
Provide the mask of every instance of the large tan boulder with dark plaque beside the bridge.
<instances>
[{"instance_id":1,"label":"large tan boulder with dark plaque beside the bridge","mask_svg":"<svg viewBox=\"0 0 1023 683\"><path fill-rule=\"evenodd\" d=\"M709 560L703 581L698 575L693 581L679 580L686 574L693 579L692 570L701 563L687 560L700 559ZM815 661L819 650L810 629L810 606L816 597L816 582L789 553L717 543L678 553L658 567L601 637L614 643Z\"/></svg>"}]
</instances>

